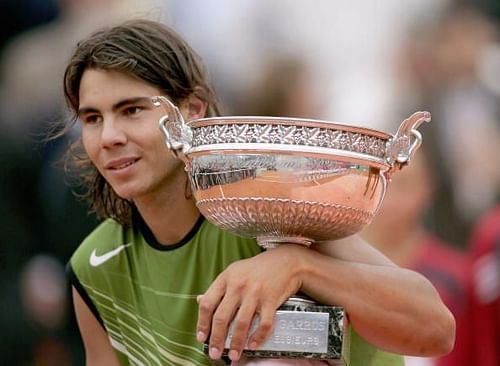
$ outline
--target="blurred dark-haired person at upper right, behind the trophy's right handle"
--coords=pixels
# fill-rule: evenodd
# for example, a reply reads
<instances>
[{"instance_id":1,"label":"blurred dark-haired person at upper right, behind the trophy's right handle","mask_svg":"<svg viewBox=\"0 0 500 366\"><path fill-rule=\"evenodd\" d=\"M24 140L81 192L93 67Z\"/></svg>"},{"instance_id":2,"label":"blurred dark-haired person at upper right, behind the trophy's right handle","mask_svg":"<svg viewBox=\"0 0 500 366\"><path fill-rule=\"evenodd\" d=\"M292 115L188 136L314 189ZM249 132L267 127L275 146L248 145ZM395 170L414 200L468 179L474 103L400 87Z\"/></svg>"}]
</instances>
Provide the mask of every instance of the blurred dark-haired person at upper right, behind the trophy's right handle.
<instances>
[{"instance_id":1,"label":"blurred dark-haired person at upper right, behind the trophy's right handle","mask_svg":"<svg viewBox=\"0 0 500 366\"><path fill-rule=\"evenodd\" d=\"M462 248L477 216L500 196L500 165L491 163L500 146L500 94L481 69L498 41L497 27L474 8L451 6L408 37L398 75L396 104L425 106L433 116L423 130L436 179L427 223ZM498 83L494 74L488 78Z\"/></svg>"}]
</instances>

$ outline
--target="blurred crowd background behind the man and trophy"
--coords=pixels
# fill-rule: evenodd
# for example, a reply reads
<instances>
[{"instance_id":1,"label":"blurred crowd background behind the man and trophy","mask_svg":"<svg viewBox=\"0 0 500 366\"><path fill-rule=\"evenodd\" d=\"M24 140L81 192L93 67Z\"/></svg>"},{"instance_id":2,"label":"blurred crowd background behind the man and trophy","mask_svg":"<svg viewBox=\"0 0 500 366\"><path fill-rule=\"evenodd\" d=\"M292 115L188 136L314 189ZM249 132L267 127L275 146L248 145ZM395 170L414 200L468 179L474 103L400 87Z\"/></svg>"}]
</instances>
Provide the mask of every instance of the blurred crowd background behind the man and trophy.
<instances>
[{"instance_id":1,"label":"blurred crowd background behind the man and trophy","mask_svg":"<svg viewBox=\"0 0 500 366\"><path fill-rule=\"evenodd\" d=\"M486 277L475 275L471 239L500 197L500 1L2 0L0 14L0 365L84 364L64 267L97 221L59 163L67 141L44 136L65 116L62 74L76 42L131 17L188 40L225 114L392 134L430 111L421 157L395 176L363 235L427 276L459 323L453 354L407 365L500 365L484 346L500 348L498 329L478 361L470 328L486 314L476 306L500 319L499 256L479 271L489 292L474 299Z\"/></svg>"}]
</instances>

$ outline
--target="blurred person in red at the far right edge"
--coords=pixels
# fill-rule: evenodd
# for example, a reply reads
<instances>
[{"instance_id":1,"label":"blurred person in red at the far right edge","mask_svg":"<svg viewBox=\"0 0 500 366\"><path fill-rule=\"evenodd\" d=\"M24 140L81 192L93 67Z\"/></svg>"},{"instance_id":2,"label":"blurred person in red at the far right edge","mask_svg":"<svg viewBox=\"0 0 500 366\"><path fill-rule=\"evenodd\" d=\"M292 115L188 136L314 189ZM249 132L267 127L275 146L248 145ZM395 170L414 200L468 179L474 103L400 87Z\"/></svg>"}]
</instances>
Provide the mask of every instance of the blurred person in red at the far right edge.
<instances>
[{"instance_id":1,"label":"blurred person in red at the far right edge","mask_svg":"<svg viewBox=\"0 0 500 366\"><path fill-rule=\"evenodd\" d=\"M477 220L469 242L473 271L474 365L500 365L500 205Z\"/></svg>"}]
</instances>

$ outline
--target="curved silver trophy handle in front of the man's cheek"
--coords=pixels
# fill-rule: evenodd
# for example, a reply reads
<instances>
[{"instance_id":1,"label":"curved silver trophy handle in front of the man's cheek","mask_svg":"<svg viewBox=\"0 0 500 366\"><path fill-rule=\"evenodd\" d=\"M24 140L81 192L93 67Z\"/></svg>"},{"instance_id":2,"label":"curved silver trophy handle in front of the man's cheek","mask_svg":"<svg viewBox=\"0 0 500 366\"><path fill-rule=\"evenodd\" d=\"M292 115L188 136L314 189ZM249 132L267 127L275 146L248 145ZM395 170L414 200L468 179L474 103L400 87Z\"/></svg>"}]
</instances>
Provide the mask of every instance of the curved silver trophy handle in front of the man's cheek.
<instances>
[{"instance_id":1,"label":"curved silver trophy handle in front of the man's cheek","mask_svg":"<svg viewBox=\"0 0 500 366\"><path fill-rule=\"evenodd\" d=\"M165 135L165 145L176 158L184 162L186 170L188 170L189 159L187 153L193 140L191 128L184 121L179 108L167 97L156 96L151 98L151 101L156 107L166 107L167 114L162 116L159 121L160 129Z\"/></svg>"}]
</instances>

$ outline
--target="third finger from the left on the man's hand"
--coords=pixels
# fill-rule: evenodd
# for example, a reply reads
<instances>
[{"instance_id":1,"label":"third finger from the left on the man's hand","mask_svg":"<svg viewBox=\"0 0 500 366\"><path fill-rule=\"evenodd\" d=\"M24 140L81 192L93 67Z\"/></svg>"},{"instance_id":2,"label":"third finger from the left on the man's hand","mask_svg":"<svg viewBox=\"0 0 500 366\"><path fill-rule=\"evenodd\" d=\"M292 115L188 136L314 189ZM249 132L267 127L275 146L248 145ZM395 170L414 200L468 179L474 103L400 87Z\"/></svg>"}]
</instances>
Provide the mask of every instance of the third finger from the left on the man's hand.
<instances>
[{"instance_id":1,"label":"third finger from the left on the man's hand","mask_svg":"<svg viewBox=\"0 0 500 366\"><path fill-rule=\"evenodd\" d=\"M255 316L256 307L257 302L254 298L244 301L233 319L231 324L231 350L229 351L229 358L231 361L239 360L241 352L247 344L248 334Z\"/></svg>"}]
</instances>

